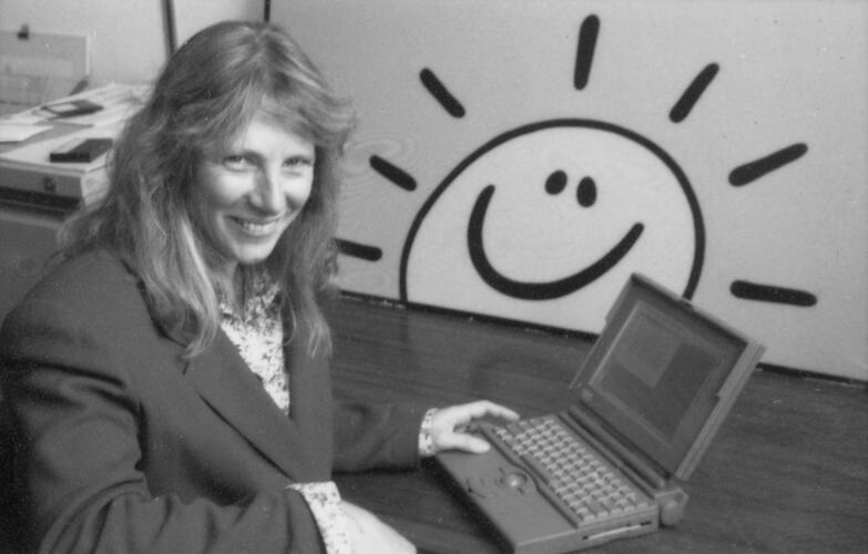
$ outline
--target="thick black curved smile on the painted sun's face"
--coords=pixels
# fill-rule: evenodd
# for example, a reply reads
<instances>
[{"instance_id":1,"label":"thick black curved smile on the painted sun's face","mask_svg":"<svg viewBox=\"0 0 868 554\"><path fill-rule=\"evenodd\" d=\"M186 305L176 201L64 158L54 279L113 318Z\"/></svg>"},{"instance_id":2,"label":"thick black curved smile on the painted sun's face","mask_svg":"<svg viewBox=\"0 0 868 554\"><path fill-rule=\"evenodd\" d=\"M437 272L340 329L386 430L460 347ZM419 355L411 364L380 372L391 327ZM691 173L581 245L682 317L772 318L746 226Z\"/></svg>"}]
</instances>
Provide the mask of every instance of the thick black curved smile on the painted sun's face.
<instances>
[{"instance_id":1,"label":"thick black curved smile on the painted sun's face","mask_svg":"<svg viewBox=\"0 0 868 554\"><path fill-rule=\"evenodd\" d=\"M470 214L470 223L467 228L467 246L470 250L470 260L482 280L491 288L513 298L523 300L551 300L575 293L585 285L593 283L614 267L626 256L633 245L642 235L644 226L636 223L624 237L611 248L603 257L569 277L562 279L528 283L510 279L491 265L486 255L482 243L482 226L486 220L488 205L494 195L494 185L488 185L479 193L473 211Z\"/></svg>"}]
</instances>

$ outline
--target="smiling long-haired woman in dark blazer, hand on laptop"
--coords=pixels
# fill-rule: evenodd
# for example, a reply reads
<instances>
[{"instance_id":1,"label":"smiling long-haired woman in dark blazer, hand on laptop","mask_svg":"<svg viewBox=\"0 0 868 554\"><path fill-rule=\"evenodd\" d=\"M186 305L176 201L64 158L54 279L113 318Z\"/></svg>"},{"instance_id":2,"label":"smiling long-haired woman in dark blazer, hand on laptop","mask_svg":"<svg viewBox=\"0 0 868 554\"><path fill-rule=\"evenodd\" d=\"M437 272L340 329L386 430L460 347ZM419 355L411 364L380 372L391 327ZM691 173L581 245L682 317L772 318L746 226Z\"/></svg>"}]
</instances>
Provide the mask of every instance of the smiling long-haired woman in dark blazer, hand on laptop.
<instances>
[{"instance_id":1,"label":"smiling long-haired woman in dark blazer, hand on laptop","mask_svg":"<svg viewBox=\"0 0 868 554\"><path fill-rule=\"evenodd\" d=\"M169 61L105 202L0 335L40 552L411 552L330 474L482 451L506 408L331 400L318 307L353 125L293 40L225 22Z\"/></svg>"}]
</instances>

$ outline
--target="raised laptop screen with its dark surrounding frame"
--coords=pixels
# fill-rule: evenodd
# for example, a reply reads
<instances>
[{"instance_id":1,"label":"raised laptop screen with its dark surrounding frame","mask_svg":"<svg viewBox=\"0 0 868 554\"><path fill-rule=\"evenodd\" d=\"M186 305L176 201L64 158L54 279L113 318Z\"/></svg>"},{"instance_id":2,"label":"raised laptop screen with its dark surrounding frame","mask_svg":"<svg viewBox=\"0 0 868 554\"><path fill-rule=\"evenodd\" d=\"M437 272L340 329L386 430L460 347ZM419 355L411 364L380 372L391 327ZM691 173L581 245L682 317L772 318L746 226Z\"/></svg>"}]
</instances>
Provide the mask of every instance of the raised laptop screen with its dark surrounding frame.
<instances>
[{"instance_id":1,"label":"raised laptop screen with its dark surrounding frame","mask_svg":"<svg viewBox=\"0 0 868 554\"><path fill-rule=\"evenodd\" d=\"M631 279L574 382L632 450L675 474L731 402L749 339L641 278ZM737 393L735 390L732 393ZM721 406L718 406L721 404Z\"/></svg>"}]
</instances>

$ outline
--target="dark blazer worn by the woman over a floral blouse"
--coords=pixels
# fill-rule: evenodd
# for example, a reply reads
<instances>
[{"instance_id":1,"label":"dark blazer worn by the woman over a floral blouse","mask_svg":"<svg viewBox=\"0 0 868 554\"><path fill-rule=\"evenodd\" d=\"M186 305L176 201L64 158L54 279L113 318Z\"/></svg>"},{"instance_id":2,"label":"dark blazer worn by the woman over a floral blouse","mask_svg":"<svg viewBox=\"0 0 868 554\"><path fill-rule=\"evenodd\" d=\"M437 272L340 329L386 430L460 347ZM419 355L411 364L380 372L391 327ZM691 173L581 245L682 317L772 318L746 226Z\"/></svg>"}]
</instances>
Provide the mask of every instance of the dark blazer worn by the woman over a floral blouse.
<instances>
[{"instance_id":1,"label":"dark blazer worn by the woman over a floral blouse","mask_svg":"<svg viewBox=\"0 0 868 554\"><path fill-rule=\"evenodd\" d=\"M287 418L224 334L184 360L116 258L61 264L0 331L17 500L40 550L321 551L286 486L415 465L422 410L333 402L327 360L295 345Z\"/></svg>"}]
</instances>

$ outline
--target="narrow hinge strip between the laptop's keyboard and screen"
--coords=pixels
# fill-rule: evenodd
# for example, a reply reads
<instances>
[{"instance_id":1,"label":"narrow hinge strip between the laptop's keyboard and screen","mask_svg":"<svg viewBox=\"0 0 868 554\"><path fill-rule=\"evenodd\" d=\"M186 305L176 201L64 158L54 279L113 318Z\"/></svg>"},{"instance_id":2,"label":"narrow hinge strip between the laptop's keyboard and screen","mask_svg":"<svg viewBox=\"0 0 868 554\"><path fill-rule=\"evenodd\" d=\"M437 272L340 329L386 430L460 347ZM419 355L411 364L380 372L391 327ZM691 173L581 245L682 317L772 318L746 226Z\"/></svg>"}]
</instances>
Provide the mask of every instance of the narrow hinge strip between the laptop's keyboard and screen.
<instances>
[{"instance_id":1,"label":"narrow hinge strip between the laptop's keyboard and screen","mask_svg":"<svg viewBox=\"0 0 868 554\"><path fill-rule=\"evenodd\" d=\"M656 471L642 460L635 452L624 447L606 431L601 423L594 421L588 413L575 406L569 408L569 418L563 418L582 439L605 454L610 462L621 471L630 473L639 481L646 483L653 490L670 485L668 475Z\"/></svg>"}]
</instances>

